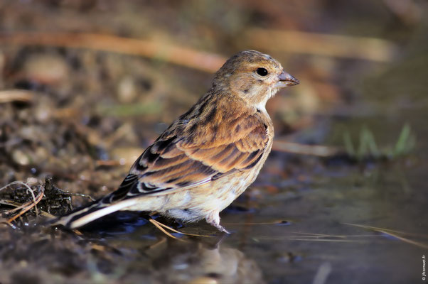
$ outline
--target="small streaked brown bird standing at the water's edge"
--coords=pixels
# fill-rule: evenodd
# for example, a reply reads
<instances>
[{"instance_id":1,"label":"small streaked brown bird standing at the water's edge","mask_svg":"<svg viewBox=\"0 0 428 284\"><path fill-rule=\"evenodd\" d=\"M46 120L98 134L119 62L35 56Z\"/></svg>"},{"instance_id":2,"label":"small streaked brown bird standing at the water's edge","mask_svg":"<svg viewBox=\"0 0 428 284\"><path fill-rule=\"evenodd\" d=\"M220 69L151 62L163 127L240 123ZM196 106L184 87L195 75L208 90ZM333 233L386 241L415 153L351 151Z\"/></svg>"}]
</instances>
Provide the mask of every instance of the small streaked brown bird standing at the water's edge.
<instances>
[{"instance_id":1,"label":"small streaked brown bird standing at the water's edge","mask_svg":"<svg viewBox=\"0 0 428 284\"><path fill-rule=\"evenodd\" d=\"M228 233L219 213L257 178L272 148L266 102L295 84L299 80L269 55L233 55L210 90L139 156L119 189L55 224L75 229L128 210L182 222L205 219Z\"/></svg>"}]
</instances>

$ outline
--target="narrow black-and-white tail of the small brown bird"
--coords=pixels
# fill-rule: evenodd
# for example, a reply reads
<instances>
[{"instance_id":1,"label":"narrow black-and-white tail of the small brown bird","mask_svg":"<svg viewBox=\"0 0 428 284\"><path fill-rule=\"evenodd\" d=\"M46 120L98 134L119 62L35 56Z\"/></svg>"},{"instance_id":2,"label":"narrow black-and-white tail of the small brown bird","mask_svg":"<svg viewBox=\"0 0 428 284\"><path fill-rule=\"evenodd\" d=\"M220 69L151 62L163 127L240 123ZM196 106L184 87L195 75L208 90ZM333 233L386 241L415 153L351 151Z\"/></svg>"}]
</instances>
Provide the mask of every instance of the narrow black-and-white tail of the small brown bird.
<instances>
[{"instance_id":1,"label":"narrow black-and-white tail of the small brown bird","mask_svg":"<svg viewBox=\"0 0 428 284\"><path fill-rule=\"evenodd\" d=\"M113 212L117 212L119 210L124 210L127 207L133 205L135 200L121 200L116 203L104 203L102 200L96 201L92 204L87 205L86 207L82 207L77 209L70 214L67 214L63 217L59 217L58 219L54 219L49 224L51 226L55 225L63 225L69 229L76 229L80 226L85 226L96 219L104 217Z\"/></svg>"}]
</instances>

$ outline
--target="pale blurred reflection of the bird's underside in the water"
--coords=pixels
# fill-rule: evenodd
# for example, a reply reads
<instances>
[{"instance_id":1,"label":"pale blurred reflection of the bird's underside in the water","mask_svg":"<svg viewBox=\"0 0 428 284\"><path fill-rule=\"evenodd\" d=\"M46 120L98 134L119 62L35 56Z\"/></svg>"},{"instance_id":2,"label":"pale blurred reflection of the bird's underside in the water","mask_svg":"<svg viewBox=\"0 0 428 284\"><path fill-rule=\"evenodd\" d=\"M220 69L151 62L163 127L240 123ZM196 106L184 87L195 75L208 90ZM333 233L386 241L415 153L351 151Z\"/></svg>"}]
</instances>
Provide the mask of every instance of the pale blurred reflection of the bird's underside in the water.
<instances>
[{"instance_id":1,"label":"pale blurred reflection of the bird's underside in the water","mask_svg":"<svg viewBox=\"0 0 428 284\"><path fill-rule=\"evenodd\" d=\"M144 254L159 283L264 283L255 261L225 244L165 239Z\"/></svg>"}]
</instances>

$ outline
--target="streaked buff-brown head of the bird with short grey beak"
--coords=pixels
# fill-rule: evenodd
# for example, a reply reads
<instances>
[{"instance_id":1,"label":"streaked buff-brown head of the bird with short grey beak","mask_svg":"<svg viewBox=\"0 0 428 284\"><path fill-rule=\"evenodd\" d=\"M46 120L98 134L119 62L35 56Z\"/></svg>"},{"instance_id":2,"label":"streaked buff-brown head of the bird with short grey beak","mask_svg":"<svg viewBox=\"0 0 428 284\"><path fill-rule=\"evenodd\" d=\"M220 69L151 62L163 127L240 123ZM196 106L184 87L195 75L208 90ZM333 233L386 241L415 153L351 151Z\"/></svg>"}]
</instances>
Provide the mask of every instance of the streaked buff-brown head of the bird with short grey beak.
<instances>
[{"instance_id":1,"label":"streaked buff-brown head of the bird with short grey beak","mask_svg":"<svg viewBox=\"0 0 428 284\"><path fill-rule=\"evenodd\" d=\"M279 89L295 84L299 80L285 72L277 60L256 50L244 50L229 58L215 73L213 87L264 109Z\"/></svg>"}]
</instances>

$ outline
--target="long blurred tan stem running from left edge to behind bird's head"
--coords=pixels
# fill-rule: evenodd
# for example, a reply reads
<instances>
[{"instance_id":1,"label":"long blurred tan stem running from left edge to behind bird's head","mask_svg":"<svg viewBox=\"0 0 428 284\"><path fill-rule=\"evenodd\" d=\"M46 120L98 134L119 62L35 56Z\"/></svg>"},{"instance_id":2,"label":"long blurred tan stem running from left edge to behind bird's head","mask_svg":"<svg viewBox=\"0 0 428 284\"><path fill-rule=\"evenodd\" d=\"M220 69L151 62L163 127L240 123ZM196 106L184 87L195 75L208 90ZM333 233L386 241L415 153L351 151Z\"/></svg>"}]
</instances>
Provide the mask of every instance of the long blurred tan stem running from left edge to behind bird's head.
<instances>
[{"instance_id":1,"label":"long blurred tan stem running from left edge to behind bird's head","mask_svg":"<svg viewBox=\"0 0 428 284\"><path fill-rule=\"evenodd\" d=\"M97 33L0 33L0 44L104 50L155 58L205 72L217 71L226 60L220 55L169 43Z\"/></svg>"}]
</instances>

